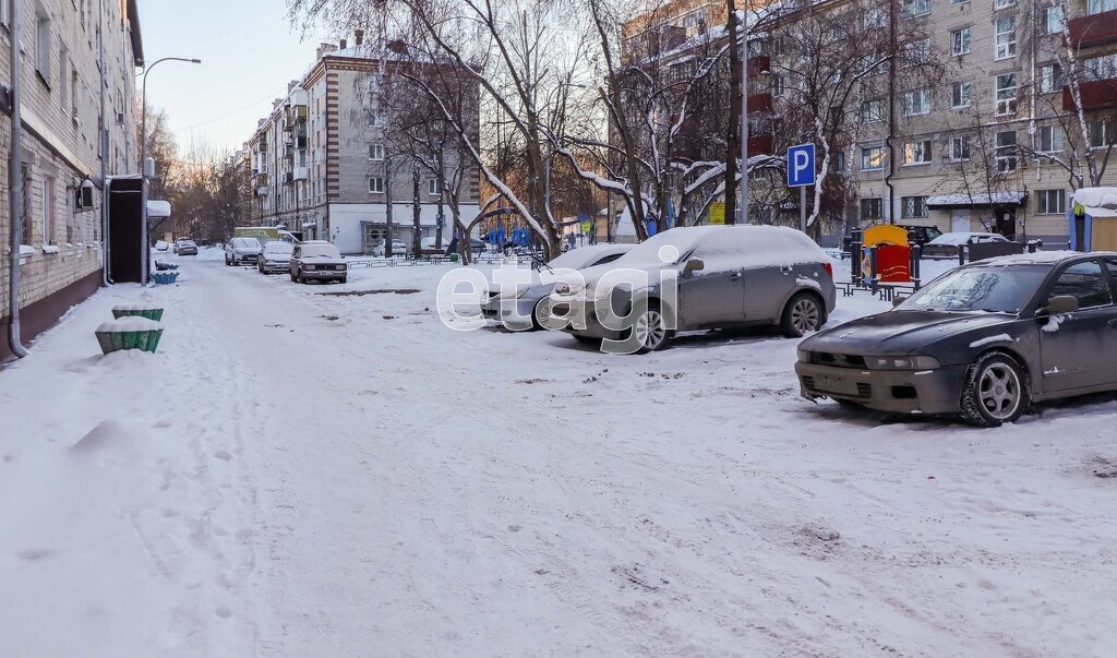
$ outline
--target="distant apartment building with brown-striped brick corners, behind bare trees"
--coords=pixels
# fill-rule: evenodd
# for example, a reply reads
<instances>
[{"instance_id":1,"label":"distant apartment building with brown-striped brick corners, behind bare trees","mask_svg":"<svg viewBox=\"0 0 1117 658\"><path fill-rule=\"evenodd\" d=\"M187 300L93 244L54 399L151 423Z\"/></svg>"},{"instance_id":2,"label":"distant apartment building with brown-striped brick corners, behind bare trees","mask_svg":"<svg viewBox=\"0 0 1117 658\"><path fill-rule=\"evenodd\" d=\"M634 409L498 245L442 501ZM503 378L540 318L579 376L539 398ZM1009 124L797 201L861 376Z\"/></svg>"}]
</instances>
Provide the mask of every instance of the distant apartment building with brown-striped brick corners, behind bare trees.
<instances>
[{"instance_id":1,"label":"distant apartment building with brown-striped brick corners, behind bare trees","mask_svg":"<svg viewBox=\"0 0 1117 658\"><path fill-rule=\"evenodd\" d=\"M446 229L450 239L449 190L440 179L459 171L462 189L458 210L468 222L479 212L479 172L460 150L419 153L414 142L401 136L393 103L384 89L398 84L402 67L414 70L417 60L393 44L375 55L357 34L350 47L323 44L307 73L288 85L271 114L259 121L246 143L250 153L252 221L302 230L306 239L328 239L345 254L367 254L389 235L411 242L413 210L418 201L421 237ZM476 96L476 90L475 90ZM409 103L426 104L421 90L411 90ZM464 122L477 141L476 103ZM410 144L404 147L404 144ZM420 164L421 159L421 166ZM440 162L436 175L431 163ZM414 172L420 189L414 194ZM462 173L464 172L464 173Z\"/></svg>"}]
</instances>

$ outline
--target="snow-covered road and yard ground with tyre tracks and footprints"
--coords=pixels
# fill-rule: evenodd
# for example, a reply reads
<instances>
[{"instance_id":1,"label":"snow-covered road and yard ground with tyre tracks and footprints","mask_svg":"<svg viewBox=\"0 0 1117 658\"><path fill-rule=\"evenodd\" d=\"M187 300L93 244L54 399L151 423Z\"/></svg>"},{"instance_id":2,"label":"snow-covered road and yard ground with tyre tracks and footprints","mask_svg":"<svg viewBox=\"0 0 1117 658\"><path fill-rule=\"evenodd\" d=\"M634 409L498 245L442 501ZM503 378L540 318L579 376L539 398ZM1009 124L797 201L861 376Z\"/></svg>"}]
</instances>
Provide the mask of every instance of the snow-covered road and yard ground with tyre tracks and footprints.
<instances>
[{"instance_id":1,"label":"snow-covered road and yard ground with tyre tracks and footprints","mask_svg":"<svg viewBox=\"0 0 1117 658\"><path fill-rule=\"evenodd\" d=\"M798 397L795 344L454 332L448 268L182 259L0 373L16 655L1110 655L1114 397L1015 426ZM341 290L418 289L325 296ZM99 356L122 302L155 355ZM881 307L839 297L838 320Z\"/></svg>"}]
</instances>

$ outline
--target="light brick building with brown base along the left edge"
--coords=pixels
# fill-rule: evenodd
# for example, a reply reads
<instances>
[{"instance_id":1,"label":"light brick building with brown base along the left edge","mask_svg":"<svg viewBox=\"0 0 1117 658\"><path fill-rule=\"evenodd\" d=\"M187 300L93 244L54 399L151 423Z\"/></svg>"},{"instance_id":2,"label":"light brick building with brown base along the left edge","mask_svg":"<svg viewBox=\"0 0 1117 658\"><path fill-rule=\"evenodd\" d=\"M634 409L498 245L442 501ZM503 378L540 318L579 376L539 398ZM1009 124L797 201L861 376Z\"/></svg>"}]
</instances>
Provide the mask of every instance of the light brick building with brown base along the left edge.
<instances>
[{"instance_id":1,"label":"light brick building with brown base along the left edge","mask_svg":"<svg viewBox=\"0 0 1117 658\"><path fill-rule=\"evenodd\" d=\"M26 344L103 280L102 171L108 177L137 172L135 67L143 65L143 47L136 0L36 0L19 4L23 57L13 67L11 3L0 2L0 96L8 115L0 121L0 180L10 180L9 92L15 70L22 114L22 161L16 177L23 196L22 239L17 258L20 328ZM0 360L10 355L7 333L12 258L7 182L3 188L0 328L6 336L0 341Z\"/></svg>"}]
</instances>

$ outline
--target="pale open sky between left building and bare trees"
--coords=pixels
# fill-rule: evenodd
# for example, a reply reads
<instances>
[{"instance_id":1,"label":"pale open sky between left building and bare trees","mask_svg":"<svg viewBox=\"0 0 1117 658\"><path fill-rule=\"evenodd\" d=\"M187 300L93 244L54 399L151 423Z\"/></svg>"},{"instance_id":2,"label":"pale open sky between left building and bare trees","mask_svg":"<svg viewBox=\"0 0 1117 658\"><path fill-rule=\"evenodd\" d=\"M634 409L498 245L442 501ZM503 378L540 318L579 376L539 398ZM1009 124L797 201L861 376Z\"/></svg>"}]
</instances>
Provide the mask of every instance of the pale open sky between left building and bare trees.
<instances>
[{"instance_id":1,"label":"pale open sky between left building and bare trees","mask_svg":"<svg viewBox=\"0 0 1117 658\"><path fill-rule=\"evenodd\" d=\"M183 155L197 139L239 149L323 36L303 39L284 0L140 0L140 21L149 63L202 60L164 61L147 76L147 103L166 108Z\"/></svg>"}]
</instances>

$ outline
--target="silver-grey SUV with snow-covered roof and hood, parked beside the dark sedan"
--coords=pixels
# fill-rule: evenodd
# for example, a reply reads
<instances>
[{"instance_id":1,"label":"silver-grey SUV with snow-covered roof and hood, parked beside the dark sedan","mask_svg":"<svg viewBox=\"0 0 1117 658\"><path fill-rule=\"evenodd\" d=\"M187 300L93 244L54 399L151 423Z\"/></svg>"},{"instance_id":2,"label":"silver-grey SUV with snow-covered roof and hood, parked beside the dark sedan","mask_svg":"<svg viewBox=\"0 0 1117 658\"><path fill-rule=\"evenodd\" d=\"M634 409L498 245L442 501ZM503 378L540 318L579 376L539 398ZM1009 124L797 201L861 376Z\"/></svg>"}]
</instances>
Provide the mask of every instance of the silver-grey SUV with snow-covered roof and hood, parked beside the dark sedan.
<instances>
[{"instance_id":1,"label":"silver-grey SUV with snow-covered roof and hood, parked beside the dark sedan","mask_svg":"<svg viewBox=\"0 0 1117 658\"><path fill-rule=\"evenodd\" d=\"M678 332L747 325L798 337L825 324L836 303L830 259L784 227L675 228L577 274L555 287L551 316L618 353L661 350Z\"/></svg>"}]
</instances>

